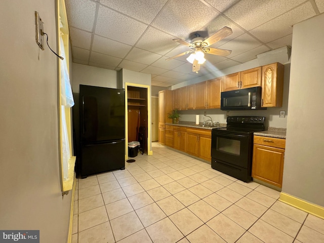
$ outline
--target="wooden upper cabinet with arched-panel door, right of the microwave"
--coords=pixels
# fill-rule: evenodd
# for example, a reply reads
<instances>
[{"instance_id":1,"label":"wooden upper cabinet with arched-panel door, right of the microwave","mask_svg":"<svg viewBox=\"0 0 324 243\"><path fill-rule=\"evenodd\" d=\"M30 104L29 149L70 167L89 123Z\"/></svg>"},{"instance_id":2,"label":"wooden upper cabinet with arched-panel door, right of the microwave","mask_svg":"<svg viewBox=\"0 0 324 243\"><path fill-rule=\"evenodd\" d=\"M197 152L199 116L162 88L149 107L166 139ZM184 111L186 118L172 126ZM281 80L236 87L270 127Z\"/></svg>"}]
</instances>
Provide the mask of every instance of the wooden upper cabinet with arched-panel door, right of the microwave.
<instances>
[{"instance_id":1,"label":"wooden upper cabinet with arched-panel door, right of the microwave","mask_svg":"<svg viewBox=\"0 0 324 243\"><path fill-rule=\"evenodd\" d=\"M262 67L262 107L281 107L284 91L284 65L272 63Z\"/></svg>"}]
</instances>

